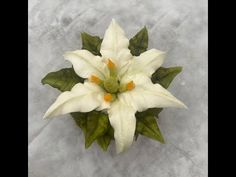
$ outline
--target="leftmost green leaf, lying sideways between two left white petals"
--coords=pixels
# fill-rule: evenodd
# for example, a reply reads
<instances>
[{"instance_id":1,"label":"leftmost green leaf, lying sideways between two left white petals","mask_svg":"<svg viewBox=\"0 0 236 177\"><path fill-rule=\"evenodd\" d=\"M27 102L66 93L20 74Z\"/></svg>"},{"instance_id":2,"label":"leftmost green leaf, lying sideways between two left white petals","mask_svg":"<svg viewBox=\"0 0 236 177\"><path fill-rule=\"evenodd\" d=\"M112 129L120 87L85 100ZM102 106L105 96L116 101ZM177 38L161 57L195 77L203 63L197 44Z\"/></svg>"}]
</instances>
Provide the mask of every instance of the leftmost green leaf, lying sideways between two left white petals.
<instances>
[{"instance_id":1,"label":"leftmost green leaf, lying sideways between two left white petals","mask_svg":"<svg viewBox=\"0 0 236 177\"><path fill-rule=\"evenodd\" d=\"M71 88L79 83L84 82L84 79L79 77L73 68L64 68L56 72L48 73L43 79L42 84L48 84L58 90L70 91Z\"/></svg>"}]
</instances>

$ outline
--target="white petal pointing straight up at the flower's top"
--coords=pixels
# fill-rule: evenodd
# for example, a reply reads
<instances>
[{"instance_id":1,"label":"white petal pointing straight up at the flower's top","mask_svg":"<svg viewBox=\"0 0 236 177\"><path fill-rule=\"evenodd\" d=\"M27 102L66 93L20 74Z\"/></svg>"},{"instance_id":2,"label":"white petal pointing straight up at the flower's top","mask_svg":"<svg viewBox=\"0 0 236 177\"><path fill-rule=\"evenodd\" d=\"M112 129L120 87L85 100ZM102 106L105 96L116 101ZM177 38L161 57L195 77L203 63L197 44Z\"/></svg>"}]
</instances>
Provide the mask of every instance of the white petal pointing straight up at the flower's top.
<instances>
[{"instance_id":1,"label":"white petal pointing straight up at the flower's top","mask_svg":"<svg viewBox=\"0 0 236 177\"><path fill-rule=\"evenodd\" d=\"M118 68L132 58L128 49L129 40L124 30L113 19L105 32L100 52L105 59L112 59Z\"/></svg>"}]
</instances>

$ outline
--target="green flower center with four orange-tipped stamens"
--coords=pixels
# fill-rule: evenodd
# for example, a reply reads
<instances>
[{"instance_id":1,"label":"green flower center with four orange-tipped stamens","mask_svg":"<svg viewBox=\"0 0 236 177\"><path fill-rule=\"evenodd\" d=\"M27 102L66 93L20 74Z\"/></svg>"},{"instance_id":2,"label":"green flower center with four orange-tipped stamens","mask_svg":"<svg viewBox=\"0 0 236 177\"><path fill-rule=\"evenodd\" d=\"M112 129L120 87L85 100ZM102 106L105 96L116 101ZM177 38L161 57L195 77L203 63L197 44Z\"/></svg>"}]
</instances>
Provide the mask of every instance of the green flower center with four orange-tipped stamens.
<instances>
[{"instance_id":1,"label":"green flower center with four orange-tipped stamens","mask_svg":"<svg viewBox=\"0 0 236 177\"><path fill-rule=\"evenodd\" d=\"M117 94L133 90L135 88L135 83L133 81L130 81L126 84L120 84L120 81L117 78L116 65L112 62L111 59L107 60L107 67L110 72L109 77L105 78L104 80L101 80L99 77L91 75L89 80L90 82L99 85L106 91L103 96L103 99L106 102L112 102L116 99Z\"/></svg>"}]
</instances>

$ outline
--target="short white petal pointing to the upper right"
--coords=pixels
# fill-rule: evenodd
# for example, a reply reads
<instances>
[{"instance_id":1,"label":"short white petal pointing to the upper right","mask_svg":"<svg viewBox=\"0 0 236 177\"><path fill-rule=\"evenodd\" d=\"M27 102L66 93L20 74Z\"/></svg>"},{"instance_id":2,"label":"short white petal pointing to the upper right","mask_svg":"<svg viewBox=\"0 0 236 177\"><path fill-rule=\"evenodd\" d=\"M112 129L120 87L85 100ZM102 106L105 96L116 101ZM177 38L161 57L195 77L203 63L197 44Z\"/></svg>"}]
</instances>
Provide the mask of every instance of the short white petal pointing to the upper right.
<instances>
[{"instance_id":1,"label":"short white petal pointing to the upper right","mask_svg":"<svg viewBox=\"0 0 236 177\"><path fill-rule=\"evenodd\" d=\"M134 57L127 75L134 75L138 73L146 74L151 77L151 75L163 64L165 58L165 52L160 50L151 49L140 56Z\"/></svg>"}]
</instances>

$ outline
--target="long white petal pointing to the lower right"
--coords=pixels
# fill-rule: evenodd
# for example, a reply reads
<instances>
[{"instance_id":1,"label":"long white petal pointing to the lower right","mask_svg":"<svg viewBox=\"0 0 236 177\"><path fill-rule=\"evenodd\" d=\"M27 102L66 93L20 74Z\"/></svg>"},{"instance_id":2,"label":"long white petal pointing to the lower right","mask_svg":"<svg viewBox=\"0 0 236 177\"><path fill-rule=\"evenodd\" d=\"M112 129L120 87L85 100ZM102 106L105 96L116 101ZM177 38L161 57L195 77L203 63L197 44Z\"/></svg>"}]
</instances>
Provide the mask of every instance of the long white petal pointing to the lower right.
<instances>
[{"instance_id":1,"label":"long white petal pointing to the lower right","mask_svg":"<svg viewBox=\"0 0 236 177\"><path fill-rule=\"evenodd\" d=\"M168 90L159 84L153 84L145 75L131 78L135 88L119 95L119 99L130 104L138 111L148 108L178 107L186 108L184 103L175 98Z\"/></svg>"}]
</instances>

